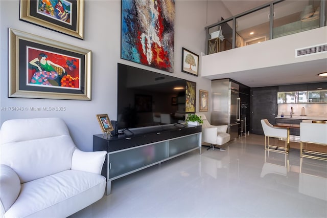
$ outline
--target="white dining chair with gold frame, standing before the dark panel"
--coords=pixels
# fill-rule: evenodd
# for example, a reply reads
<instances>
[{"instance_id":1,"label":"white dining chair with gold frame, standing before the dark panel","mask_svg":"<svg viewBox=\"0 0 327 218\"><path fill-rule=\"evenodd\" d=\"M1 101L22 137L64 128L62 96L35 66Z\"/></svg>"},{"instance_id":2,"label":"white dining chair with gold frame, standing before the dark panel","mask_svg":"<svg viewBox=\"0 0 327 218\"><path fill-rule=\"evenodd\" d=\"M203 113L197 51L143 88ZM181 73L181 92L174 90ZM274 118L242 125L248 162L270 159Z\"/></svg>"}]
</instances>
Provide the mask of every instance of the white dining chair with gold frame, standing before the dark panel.
<instances>
[{"instance_id":1,"label":"white dining chair with gold frame, standing before the dark panel","mask_svg":"<svg viewBox=\"0 0 327 218\"><path fill-rule=\"evenodd\" d=\"M288 153L288 150L289 150L288 141L289 141L289 137L290 137L289 129L274 127L271 123L269 123L269 121L267 119L262 119L261 125L264 130L264 134L265 134L265 149ZM275 141L274 145L271 145L270 140L269 140L270 137L275 138L275 139L278 139L278 138L284 139L285 147L278 147L276 141ZM271 148L273 148L273 149L271 149ZM278 150L278 149L281 149L281 150Z\"/></svg>"}]
</instances>

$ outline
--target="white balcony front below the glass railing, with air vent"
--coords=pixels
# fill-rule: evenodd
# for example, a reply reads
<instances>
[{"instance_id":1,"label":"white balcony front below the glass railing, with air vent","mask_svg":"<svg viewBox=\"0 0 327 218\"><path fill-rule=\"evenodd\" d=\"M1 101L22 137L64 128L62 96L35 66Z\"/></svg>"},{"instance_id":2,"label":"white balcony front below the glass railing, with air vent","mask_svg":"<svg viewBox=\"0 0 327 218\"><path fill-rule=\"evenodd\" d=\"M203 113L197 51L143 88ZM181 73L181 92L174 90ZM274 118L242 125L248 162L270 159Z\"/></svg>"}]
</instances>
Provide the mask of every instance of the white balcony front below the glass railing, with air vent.
<instances>
[{"instance_id":1,"label":"white balcony front below the glass railing, with air vent","mask_svg":"<svg viewBox=\"0 0 327 218\"><path fill-rule=\"evenodd\" d=\"M311 37L312 35L315 37ZM310 40L308 40L308 38L310 38ZM251 46L244 46L206 55L202 57L202 76L212 76L325 59L325 53L296 58L295 49L324 44L326 43L326 38L327 27L321 27L267 40ZM238 64L235 64L235 60L238 60Z\"/></svg>"}]
</instances>

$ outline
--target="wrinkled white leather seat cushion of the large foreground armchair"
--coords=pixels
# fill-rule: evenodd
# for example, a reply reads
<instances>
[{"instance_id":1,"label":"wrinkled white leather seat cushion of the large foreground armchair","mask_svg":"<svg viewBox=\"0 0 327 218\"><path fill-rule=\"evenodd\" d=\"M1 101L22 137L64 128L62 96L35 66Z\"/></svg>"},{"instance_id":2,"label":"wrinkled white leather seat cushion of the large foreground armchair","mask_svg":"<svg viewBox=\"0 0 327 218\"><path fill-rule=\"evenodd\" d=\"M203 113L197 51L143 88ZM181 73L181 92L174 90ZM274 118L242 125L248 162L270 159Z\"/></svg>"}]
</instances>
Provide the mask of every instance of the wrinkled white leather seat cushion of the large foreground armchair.
<instances>
[{"instance_id":1,"label":"wrinkled white leather seat cushion of the large foreground armchair","mask_svg":"<svg viewBox=\"0 0 327 218\"><path fill-rule=\"evenodd\" d=\"M81 205L86 207L101 199L105 183L101 175L78 170L66 170L23 183L18 199L6 216L66 217Z\"/></svg>"}]
</instances>

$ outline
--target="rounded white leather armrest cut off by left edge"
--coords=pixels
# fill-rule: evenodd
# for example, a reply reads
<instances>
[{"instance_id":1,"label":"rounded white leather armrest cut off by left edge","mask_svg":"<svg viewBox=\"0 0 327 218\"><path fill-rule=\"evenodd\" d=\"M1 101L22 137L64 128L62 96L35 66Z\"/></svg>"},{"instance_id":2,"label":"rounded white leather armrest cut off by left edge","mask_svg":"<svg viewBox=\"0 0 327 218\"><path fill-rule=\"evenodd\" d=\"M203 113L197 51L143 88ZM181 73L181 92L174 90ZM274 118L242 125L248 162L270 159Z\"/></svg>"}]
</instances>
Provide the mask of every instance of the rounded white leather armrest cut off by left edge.
<instances>
[{"instance_id":1,"label":"rounded white leather armrest cut off by left edge","mask_svg":"<svg viewBox=\"0 0 327 218\"><path fill-rule=\"evenodd\" d=\"M1 164L0 172L1 210L7 211L18 197L20 181L16 172L7 165Z\"/></svg>"}]
</instances>

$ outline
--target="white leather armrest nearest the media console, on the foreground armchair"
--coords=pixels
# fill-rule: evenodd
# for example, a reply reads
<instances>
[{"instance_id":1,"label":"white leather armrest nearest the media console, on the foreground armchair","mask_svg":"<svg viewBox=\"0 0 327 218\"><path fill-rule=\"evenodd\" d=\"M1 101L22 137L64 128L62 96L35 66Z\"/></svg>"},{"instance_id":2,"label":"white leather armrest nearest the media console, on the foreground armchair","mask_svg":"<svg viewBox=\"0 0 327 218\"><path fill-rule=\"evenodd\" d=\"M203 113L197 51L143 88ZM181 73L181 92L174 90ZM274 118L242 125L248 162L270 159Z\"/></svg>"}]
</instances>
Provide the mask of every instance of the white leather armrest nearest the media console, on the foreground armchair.
<instances>
[{"instance_id":1,"label":"white leather armrest nearest the media console, on the foreground armchair","mask_svg":"<svg viewBox=\"0 0 327 218\"><path fill-rule=\"evenodd\" d=\"M85 152L76 148L72 157L72 169L101 174L107 151Z\"/></svg>"}]
</instances>

